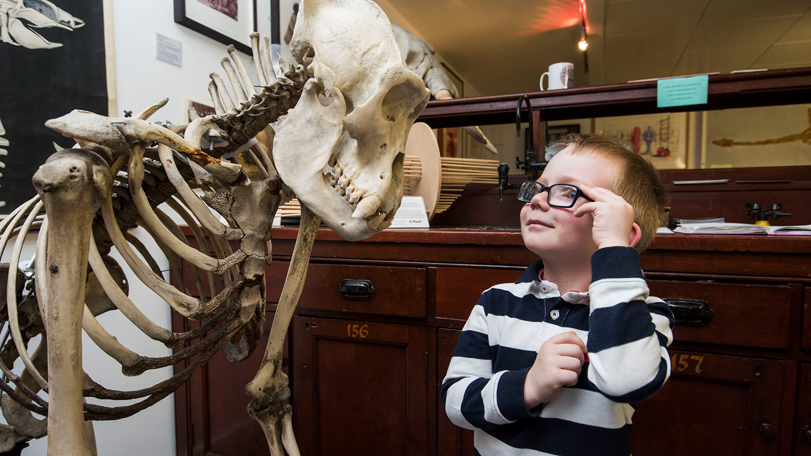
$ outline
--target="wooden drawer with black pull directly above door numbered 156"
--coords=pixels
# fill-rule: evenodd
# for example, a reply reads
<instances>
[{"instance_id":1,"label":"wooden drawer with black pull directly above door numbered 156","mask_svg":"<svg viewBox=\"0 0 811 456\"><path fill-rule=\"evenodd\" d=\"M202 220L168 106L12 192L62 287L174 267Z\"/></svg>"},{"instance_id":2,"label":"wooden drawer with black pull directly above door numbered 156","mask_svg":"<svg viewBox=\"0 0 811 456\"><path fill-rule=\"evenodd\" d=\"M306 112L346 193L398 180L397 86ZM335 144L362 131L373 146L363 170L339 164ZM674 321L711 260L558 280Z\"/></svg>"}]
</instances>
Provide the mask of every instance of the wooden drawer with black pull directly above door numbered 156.
<instances>
[{"instance_id":1,"label":"wooden drawer with black pull directly above door numbered 156","mask_svg":"<svg viewBox=\"0 0 811 456\"><path fill-rule=\"evenodd\" d=\"M273 262L268 278L269 302L279 301L288 268L289 262ZM357 282L345 281L365 282L355 285ZM310 264L298 307L424 317L425 269Z\"/></svg>"}]
</instances>

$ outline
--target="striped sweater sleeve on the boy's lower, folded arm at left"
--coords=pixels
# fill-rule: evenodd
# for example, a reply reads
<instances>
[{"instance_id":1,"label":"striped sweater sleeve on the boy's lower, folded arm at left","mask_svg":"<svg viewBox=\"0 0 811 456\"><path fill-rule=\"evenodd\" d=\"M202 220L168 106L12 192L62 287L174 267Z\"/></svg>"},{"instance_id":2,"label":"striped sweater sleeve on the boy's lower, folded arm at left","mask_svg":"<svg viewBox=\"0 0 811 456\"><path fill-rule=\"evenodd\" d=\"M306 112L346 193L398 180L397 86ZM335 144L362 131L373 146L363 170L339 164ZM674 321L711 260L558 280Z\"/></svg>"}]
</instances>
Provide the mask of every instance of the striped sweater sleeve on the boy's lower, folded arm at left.
<instances>
[{"instance_id":1,"label":"striped sweater sleeve on the boy's lower, folded arm at left","mask_svg":"<svg viewBox=\"0 0 811 456\"><path fill-rule=\"evenodd\" d=\"M442 381L442 404L448 418L462 428L490 430L521 418L534 418L524 403L524 380L529 368L492 372L493 347L487 337L483 303L487 292L470 313L459 336L448 375Z\"/></svg>"}]
</instances>

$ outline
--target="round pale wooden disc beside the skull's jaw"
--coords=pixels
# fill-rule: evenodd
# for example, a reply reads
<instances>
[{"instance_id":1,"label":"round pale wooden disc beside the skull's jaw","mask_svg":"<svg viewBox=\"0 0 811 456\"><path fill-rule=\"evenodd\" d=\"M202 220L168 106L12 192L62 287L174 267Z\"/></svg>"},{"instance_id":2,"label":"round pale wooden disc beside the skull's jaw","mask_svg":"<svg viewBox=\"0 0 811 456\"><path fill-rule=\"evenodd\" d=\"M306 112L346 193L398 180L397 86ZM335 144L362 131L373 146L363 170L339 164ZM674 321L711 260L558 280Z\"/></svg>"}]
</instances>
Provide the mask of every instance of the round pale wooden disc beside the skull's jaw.
<instances>
[{"instance_id":1,"label":"round pale wooden disc beside the skull's jaw","mask_svg":"<svg viewBox=\"0 0 811 456\"><path fill-rule=\"evenodd\" d=\"M442 167L440 166L440 144L427 123L414 123L405 141L405 155L419 157L423 166L423 177L411 182L411 195L422 196L428 220L434 217L436 203L440 200Z\"/></svg>"}]
</instances>

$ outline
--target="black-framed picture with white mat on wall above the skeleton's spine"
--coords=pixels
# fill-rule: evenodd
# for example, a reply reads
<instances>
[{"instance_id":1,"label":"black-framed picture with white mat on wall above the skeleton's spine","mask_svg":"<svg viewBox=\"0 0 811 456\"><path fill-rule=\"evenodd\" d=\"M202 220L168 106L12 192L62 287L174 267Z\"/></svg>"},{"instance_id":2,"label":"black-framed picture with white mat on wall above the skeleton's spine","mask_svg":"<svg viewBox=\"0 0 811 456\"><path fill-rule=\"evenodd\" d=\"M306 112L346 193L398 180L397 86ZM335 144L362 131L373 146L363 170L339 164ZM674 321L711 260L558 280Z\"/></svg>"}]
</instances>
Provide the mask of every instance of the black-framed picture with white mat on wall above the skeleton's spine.
<instances>
[{"instance_id":1,"label":"black-framed picture with white mat on wall above the skeleton's spine","mask_svg":"<svg viewBox=\"0 0 811 456\"><path fill-rule=\"evenodd\" d=\"M248 55L256 21L256 0L174 0L174 22Z\"/></svg>"}]
</instances>

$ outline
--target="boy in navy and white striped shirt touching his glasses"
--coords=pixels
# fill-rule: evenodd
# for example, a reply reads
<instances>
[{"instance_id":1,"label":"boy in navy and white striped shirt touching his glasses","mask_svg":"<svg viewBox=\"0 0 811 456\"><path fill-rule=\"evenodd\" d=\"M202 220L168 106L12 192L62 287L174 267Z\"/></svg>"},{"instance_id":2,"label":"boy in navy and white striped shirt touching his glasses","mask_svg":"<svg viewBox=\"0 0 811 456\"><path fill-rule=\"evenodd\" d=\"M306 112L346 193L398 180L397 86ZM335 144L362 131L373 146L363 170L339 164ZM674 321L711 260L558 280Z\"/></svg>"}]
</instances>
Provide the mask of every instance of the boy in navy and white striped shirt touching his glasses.
<instances>
[{"instance_id":1,"label":"boy in navy and white striped shirt touching his glasses","mask_svg":"<svg viewBox=\"0 0 811 456\"><path fill-rule=\"evenodd\" d=\"M648 296L638 255L662 220L659 174L603 136L556 146L518 190L541 260L483 293L442 385L445 412L483 456L628 456L633 407L670 374L673 316Z\"/></svg>"}]
</instances>

